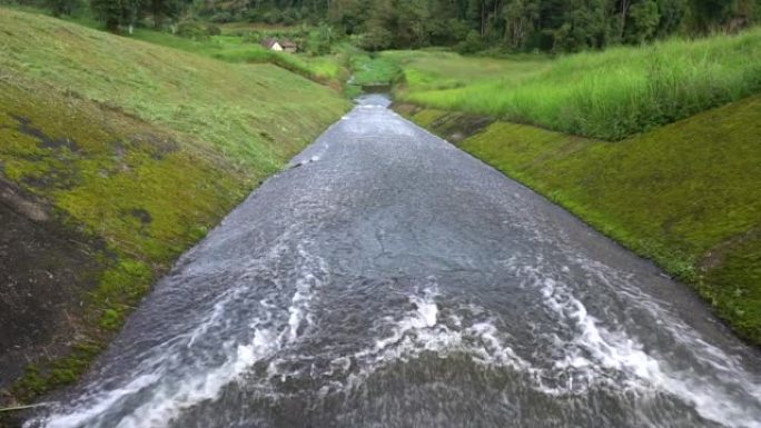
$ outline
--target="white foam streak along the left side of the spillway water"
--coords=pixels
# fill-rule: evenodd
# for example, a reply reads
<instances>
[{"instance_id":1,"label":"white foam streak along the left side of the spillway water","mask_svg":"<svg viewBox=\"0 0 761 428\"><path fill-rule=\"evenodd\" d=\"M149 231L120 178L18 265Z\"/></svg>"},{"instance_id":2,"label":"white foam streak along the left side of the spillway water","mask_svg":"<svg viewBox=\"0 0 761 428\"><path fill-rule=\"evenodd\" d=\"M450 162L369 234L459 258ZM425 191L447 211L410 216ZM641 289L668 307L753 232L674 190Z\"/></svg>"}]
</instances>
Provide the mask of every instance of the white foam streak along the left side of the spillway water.
<instances>
[{"instance_id":1,"label":"white foam streak along the left side of the spillway water","mask_svg":"<svg viewBox=\"0 0 761 428\"><path fill-rule=\"evenodd\" d=\"M279 251L279 250L278 250ZM178 337L168 349L157 352L154 360L146 361L141 367L152 368L149 374L138 375L125 387L110 391L101 391L80 400L72 411L55 414L45 420L37 421L48 428L71 428L80 426L107 426L116 428L151 428L162 427L177 418L185 409L191 408L205 400L217 398L223 389L241 379L250 371L254 364L271 358L278 350L299 337L299 329L306 322L313 322L309 315L309 302L314 292L323 281L318 276L327 275L326 266L319 258L310 256L304 247L298 248L300 263L296 266L298 277L296 291L291 303L287 308L288 322L279 329L264 327L273 318L271 311L278 310L266 299L259 305L265 313L250 322L253 339L248 344L228 341L223 344L227 358L216 367L207 367L204 361L204 350L199 349L191 364L182 364L171 348L175 344L192 348L199 338L206 335L213 326L223 322L226 306L238 296L249 292L245 287L228 291L220 296L205 320L189 334ZM270 255L271 256L271 255ZM313 270L318 273L313 273ZM181 341L186 339L187 341ZM167 344L165 344L167 345ZM179 374L176 371L181 370ZM140 397L141 405L128 415L115 420L111 412L120 409L120 402ZM30 421L31 424L31 421Z\"/></svg>"}]
</instances>

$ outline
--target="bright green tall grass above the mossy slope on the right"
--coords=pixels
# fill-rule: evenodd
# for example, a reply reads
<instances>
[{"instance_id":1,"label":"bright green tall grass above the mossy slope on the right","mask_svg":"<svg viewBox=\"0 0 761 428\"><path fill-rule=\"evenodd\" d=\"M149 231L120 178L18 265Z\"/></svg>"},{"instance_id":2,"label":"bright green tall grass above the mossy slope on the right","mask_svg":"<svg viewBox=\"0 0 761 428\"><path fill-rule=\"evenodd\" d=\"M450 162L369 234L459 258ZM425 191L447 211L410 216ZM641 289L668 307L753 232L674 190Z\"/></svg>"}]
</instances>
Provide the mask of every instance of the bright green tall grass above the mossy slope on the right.
<instances>
[{"instance_id":1,"label":"bright green tall grass above the mossy slope on the right","mask_svg":"<svg viewBox=\"0 0 761 428\"><path fill-rule=\"evenodd\" d=\"M474 71L474 73L477 73ZM542 72L403 98L620 140L761 91L761 29L557 59Z\"/></svg>"}]
</instances>

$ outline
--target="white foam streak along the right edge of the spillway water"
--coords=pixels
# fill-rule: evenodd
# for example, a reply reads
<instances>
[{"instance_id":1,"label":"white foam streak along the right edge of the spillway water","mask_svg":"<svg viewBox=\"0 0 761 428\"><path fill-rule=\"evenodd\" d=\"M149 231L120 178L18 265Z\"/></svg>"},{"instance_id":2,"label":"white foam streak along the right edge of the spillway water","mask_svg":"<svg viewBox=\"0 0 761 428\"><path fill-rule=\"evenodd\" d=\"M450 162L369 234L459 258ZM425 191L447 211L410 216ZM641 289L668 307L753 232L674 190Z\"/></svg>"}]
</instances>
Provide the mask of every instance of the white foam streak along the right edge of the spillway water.
<instances>
[{"instance_id":1,"label":"white foam streak along the right edge of the spillway water","mask_svg":"<svg viewBox=\"0 0 761 428\"><path fill-rule=\"evenodd\" d=\"M645 392L661 390L679 397L692 405L703 418L729 427L759 428L758 409L743 407L735 401L732 390L740 389L747 396L761 400L761 387L749 384L739 367L731 367L734 379L732 385L718 385L713 379L700 377L694 371L680 372L670 368L669 364L643 350L642 344L626 335L623 330L611 330L602 326L600 320L591 316L586 307L571 291L551 278L544 278L542 293L545 303L579 330L570 341L562 344L564 358L555 362L559 371L574 369L574 388L587 389L595 385L609 385L621 389ZM665 317L664 313L660 313ZM688 329L684 326L684 329ZM695 344L695 351L701 351ZM703 344L704 345L704 344ZM712 352L721 352L712 348ZM724 358L724 361L730 360ZM718 372L730 369L725 362L712 365ZM625 375L622 385L621 377ZM581 382L580 382L581 381ZM561 392L557 388L546 388L547 392ZM571 391L566 391L571 392Z\"/></svg>"}]
</instances>

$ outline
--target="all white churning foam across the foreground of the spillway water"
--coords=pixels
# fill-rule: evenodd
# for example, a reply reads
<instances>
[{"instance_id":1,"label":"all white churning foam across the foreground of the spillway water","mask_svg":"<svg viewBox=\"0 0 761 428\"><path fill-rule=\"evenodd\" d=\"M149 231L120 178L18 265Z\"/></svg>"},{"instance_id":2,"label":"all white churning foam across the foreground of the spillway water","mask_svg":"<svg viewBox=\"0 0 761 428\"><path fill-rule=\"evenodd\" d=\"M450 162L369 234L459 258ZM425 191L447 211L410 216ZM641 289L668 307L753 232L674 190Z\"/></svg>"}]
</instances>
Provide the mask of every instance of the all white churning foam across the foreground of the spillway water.
<instances>
[{"instance_id":1,"label":"all white churning foam across the foreground of the spillway water","mask_svg":"<svg viewBox=\"0 0 761 428\"><path fill-rule=\"evenodd\" d=\"M137 394L152 395L127 418L120 428L144 428L164 425L176 418L184 409L198 402L216 398L221 389L240 379L251 366L259 360L270 359L267 374L270 379L285 379L280 370L294 366L294 358L303 356L277 354L299 340L300 335L314 325L312 303L319 287L327 281L328 269L322 259L312 257L304 248L298 249L302 260L295 267L298 278L295 292L287 308L287 322L279 328L265 328L271 315L265 311L260 318L251 322L255 335L250 344L227 344L230 357L211 370L198 370L188 374L188 378L172 384L162 384L164 372L155 371L137 377L123 388L99 396L88 401L70 415L56 415L48 421L48 427L65 428L80 425L95 425L103 415L116 407L119 400ZM438 286L429 280L425 287L407 296L409 310L401 317L383 319L387 335L376 339L368 348L349 355L335 356L327 368L315 369L312 376L322 377L325 385L320 394L332 390L353 388L364 381L378 368L399 360L417 358L422 352L433 351L442 357L452 352L470 355L477 364L492 368L511 368L527 375L533 387L547 395L566 396L583 395L590 388L609 387L611 390L653 396L653 392L665 392L692 406L703 418L728 427L761 428L758 406L743 407L735 400L735 395L745 398L754 397L761 402L761 386L745 374L741 366L729 358L720 349L711 347L696 338L686 326L675 324L666 313L660 313L663 328L680 327L679 338L693 346L700 361L710 365L716 378L700 377L693 371L681 372L671 367L666 359L648 352L641 342L635 340L615 322L604 324L591 315L584 303L577 299L562 278L545 277L542 270L543 260L521 266L512 258L505 265L515 269L524 279L523 287L537 287L542 296L542 305L556 316L555 322L562 326L570 336L554 335L545 337L552 346L554 361L547 366L531 362L516 354L513 338L496 327L496 316L476 306L457 308L457 315L442 312L437 302ZM551 269L547 269L552 271ZM594 267L595 275L601 271ZM561 272L569 272L564 267ZM604 277L601 281L606 280ZM646 302L651 299L635 295ZM226 299L236 295L229 293ZM263 308L278 311L267 300L260 301ZM650 305L650 303L648 303ZM651 308L656 311L658 307ZM201 324L189 336L191 347L200 335L206 334L207 326L219 322L224 313L224 305L216 305L207 322ZM567 330L567 331L566 331ZM562 337L561 337L562 336ZM283 359L273 359L274 357ZM343 377L335 375L346 375ZM550 379L550 380L547 380ZM552 379L565 379L561 381ZM720 379L721 382L715 382ZM550 384L552 381L552 384ZM747 402L747 401L745 401ZM95 422L95 424L90 424Z\"/></svg>"}]
</instances>

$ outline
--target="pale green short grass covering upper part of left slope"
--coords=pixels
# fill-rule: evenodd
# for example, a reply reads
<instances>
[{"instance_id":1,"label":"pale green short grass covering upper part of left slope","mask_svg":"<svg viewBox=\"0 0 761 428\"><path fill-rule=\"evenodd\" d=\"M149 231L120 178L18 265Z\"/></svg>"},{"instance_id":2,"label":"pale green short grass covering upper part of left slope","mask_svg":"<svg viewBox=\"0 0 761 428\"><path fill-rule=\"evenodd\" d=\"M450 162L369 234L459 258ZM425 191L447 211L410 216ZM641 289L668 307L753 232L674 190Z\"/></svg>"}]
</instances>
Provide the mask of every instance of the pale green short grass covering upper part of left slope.
<instances>
[{"instance_id":1,"label":"pale green short grass covering upper part of left slope","mask_svg":"<svg viewBox=\"0 0 761 428\"><path fill-rule=\"evenodd\" d=\"M0 31L3 72L197 136L265 172L347 106L274 66L227 64L42 16L0 9Z\"/></svg>"}]
</instances>

